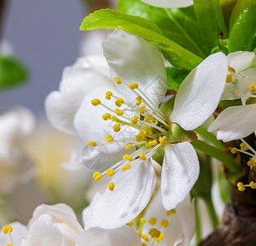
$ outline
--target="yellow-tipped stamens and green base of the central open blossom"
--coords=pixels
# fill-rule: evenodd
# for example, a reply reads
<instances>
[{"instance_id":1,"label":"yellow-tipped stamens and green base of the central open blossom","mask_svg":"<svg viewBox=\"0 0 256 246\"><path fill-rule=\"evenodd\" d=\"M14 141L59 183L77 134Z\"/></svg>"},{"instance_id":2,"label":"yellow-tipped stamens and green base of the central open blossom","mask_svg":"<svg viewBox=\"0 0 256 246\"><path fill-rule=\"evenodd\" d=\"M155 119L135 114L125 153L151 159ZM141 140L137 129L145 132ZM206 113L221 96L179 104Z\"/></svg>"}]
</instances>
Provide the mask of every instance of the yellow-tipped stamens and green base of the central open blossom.
<instances>
[{"instance_id":1,"label":"yellow-tipped stamens and green base of the central open blossom","mask_svg":"<svg viewBox=\"0 0 256 246\"><path fill-rule=\"evenodd\" d=\"M103 173L95 172L93 178L96 181L99 181L102 175L113 176L116 171L132 169L152 157L156 152L163 150L165 144L187 141L191 135L191 132L183 130L178 124L171 123L168 117L161 112L158 105L139 88L137 83L127 84L118 77L115 77L114 81L119 86L122 84L127 87L136 100L133 103L128 103L123 98L114 95L111 91L107 91L105 99L114 100L115 108L102 103L99 98L92 99L91 104L95 107L100 106L106 109L107 112L102 116L102 120L114 122L114 133L119 133L119 131L122 131L122 128L127 130L127 127L131 127L133 132L137 130L137 135L132 138L120 139L119 136L122 134L116 134L117 137L114 137L113 133L109 132L105 135L104 143L96 143L94 140L90 140L88 145L95 147L102 144L123 144L125 150L129 150L134 146L138 149L133 153L124 154L123 159L114 164L111 169ZM109 190L114 190L113 182L109 183Z\"/></svg>"}]
</instances>

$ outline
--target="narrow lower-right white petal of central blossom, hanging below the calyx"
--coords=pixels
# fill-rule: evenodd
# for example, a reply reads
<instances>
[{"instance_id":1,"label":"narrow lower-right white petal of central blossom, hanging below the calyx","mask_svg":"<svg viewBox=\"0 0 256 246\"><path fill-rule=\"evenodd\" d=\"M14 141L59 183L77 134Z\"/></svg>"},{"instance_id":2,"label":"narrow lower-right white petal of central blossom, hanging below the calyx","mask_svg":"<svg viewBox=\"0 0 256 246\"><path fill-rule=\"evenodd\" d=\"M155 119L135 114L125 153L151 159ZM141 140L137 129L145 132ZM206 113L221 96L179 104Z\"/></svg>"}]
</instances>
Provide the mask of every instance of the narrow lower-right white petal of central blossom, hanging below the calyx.
<instances>
[{"instance_id":1,"label":"narrow lower-right white petal of central blossom, hanging below the calyx","mask_svg":"<svg viewBox=\"0 0 256 246\"><path fill-rule=\"evenodd\" d=\"M161 174L161 194L166 210L182 202L198 180L198 156L192 144L183 142L165 146Z\"/></svg>"}]
</instances>

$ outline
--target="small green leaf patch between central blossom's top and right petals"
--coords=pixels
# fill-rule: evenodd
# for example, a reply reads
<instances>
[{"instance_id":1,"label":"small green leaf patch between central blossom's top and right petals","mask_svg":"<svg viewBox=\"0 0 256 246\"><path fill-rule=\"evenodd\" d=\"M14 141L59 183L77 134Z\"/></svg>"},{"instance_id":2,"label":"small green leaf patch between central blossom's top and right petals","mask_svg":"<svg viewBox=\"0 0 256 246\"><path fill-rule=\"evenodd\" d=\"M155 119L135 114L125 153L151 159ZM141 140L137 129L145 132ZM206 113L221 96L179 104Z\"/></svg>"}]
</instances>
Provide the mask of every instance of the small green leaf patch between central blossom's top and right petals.
<instances>
[{"instance_id":1,"label":"small green leaf patch between central blossom's top and right petals","mask_svg":"<svg viewBox=\"0 0 256 246\"><path fill-rule=\"evenodd\" d=\"M189 72L173 66L165 67L165 70L167 75L167 89L175 90L177 92L180 84Z\"/></svg>"}]
</instances>

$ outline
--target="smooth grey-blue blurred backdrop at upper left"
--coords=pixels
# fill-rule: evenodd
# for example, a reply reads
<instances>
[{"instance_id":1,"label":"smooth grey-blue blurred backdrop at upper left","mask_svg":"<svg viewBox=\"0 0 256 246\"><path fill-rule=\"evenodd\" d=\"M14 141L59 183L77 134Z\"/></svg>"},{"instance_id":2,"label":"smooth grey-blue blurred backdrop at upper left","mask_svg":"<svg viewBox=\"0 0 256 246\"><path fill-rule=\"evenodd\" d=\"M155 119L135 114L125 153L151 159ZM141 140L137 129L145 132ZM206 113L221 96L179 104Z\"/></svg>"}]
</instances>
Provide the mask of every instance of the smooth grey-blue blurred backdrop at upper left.
<instances>
[{"instance_id":1,"label":"smooth grey-blue blurred backdrop at upper left","mask_svg":"<svg viewBox=\"0 0 256 246\"><path fill-rule=\"evenodd\" d=\"M2 41L29 67L30 81L1 93L0 108L23 105L36 114L44 113L44 98L58 89L63 67L78 57L85 8L79 0L4 2Z\"/></svg>"}]
</instances>

